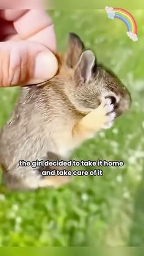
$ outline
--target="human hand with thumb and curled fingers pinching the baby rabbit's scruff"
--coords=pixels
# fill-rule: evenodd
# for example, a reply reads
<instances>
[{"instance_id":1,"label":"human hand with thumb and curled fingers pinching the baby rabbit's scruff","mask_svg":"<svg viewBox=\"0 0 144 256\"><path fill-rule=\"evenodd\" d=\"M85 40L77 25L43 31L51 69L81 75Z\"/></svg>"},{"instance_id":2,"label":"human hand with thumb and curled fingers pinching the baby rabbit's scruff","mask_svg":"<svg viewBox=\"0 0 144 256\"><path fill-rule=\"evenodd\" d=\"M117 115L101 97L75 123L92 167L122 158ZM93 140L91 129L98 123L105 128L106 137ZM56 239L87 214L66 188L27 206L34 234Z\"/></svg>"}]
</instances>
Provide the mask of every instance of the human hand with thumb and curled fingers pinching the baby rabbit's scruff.
<instances>
[{"instance_id":1,"label":"human hand with thumb and curled fingers pinching the baby rabbit's scruff","mask_svg":"<svg viewBox=\"0 0 144 256\"><path fill-rule=\"evenodd\" d=\"M45 10L0 11L0 86L37 84L56 75L56 37Z\"/></svg>"}]
</instances>

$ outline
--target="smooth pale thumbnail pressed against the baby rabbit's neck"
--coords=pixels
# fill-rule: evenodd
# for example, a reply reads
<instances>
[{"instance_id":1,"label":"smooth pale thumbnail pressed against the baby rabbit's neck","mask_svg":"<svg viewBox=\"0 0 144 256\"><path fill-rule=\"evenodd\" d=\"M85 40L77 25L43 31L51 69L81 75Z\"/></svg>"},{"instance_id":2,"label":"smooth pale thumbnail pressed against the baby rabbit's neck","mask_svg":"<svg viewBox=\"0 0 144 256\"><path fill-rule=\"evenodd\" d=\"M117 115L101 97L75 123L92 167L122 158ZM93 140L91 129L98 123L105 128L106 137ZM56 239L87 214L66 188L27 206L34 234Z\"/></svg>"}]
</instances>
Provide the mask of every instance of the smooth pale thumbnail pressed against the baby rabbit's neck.
<instances>
[{"instance_id":1,"label":"smooth pale thumbnail pressed against the baby rabbit's neck","mask_svg":"<svg viewBox=\"0 0 144 256\"><path fill-rule=\"evenodd\" d=\"M58 62L56 56L51 51L46 51L37 54L35 58L35 79L51 79L56 75L58 69Z\"/></svg>"}]
</instances>

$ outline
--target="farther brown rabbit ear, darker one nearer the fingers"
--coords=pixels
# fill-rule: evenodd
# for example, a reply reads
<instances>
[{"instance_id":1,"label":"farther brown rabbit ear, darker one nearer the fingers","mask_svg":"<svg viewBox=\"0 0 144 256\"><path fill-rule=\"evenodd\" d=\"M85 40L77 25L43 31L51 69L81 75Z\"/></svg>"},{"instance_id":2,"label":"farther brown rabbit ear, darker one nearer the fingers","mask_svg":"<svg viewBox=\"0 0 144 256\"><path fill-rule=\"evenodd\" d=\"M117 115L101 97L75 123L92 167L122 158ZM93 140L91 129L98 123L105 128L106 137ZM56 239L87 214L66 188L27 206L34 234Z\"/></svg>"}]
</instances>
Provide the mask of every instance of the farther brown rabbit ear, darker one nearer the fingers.
<instances>
[{"instance_id":1,"label":"farther brown rabbit ear, darker one nearer the fingers","mask_svg":"<svg viewBox=\"0 0 144 256\"><path fill-rule=\"evenodd\" d=\"M66 54L66 64L69 68L76 66L82 51L84 51L84 43L82 43L81 38L74 33L70 33L68 38L68 51Z\"/></svg>"}]
</instances>

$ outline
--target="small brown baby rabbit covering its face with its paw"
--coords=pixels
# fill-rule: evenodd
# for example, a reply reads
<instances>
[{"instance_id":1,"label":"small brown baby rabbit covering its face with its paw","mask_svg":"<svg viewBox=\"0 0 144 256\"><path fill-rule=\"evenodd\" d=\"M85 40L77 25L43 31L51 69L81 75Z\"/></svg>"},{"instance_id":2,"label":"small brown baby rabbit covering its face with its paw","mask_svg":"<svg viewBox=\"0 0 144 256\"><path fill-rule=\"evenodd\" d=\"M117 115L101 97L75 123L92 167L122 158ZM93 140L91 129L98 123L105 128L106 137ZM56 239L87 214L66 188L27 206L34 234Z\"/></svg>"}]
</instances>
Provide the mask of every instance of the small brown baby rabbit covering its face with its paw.
<instances>
[{"instance_id":1,"label":"small brown baby rabbit covering its face with its paw","mask_svg":"<svg viewBox=\"0 0 144 256\"><path fill-rule=\"evenodd\" d=\"M128 110L128 90L93 51L70 34L66 54L57 54L59 71L50 81L21 88L20 100L0 133L3 181L10 189L57 187L66 176L41 175L41 169L21 167L20 160L67 159L71 151ZM45 167L45 169L66 169Z\"/></svg>"}]
</instances>

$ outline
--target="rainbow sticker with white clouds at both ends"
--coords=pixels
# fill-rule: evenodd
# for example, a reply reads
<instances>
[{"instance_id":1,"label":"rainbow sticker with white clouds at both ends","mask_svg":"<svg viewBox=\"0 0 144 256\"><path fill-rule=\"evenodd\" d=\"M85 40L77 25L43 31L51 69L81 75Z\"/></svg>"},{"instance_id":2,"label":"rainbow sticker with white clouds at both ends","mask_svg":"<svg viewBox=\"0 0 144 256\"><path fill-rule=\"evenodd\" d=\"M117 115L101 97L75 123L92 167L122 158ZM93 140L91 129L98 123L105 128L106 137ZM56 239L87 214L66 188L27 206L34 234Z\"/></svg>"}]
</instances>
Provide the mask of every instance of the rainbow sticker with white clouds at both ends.
<instances>
[{"instance_id":1,"label":"rainbow sticker with white clouds at both ends","mask_svg":"<svg viewBox=\"0 0 144 256\"><path fill-rule=\"evenodd\" d=\"M131 38L133 41L137 41L137 24L135 22L134 17L129 13L127 10L121 9L121 8L112 8L106 6L105 8L107 12L107 16L110 19L117 18L121 21L123 21L126 24L127 32L129 38Z\"/></svg>"}]
</instances>

